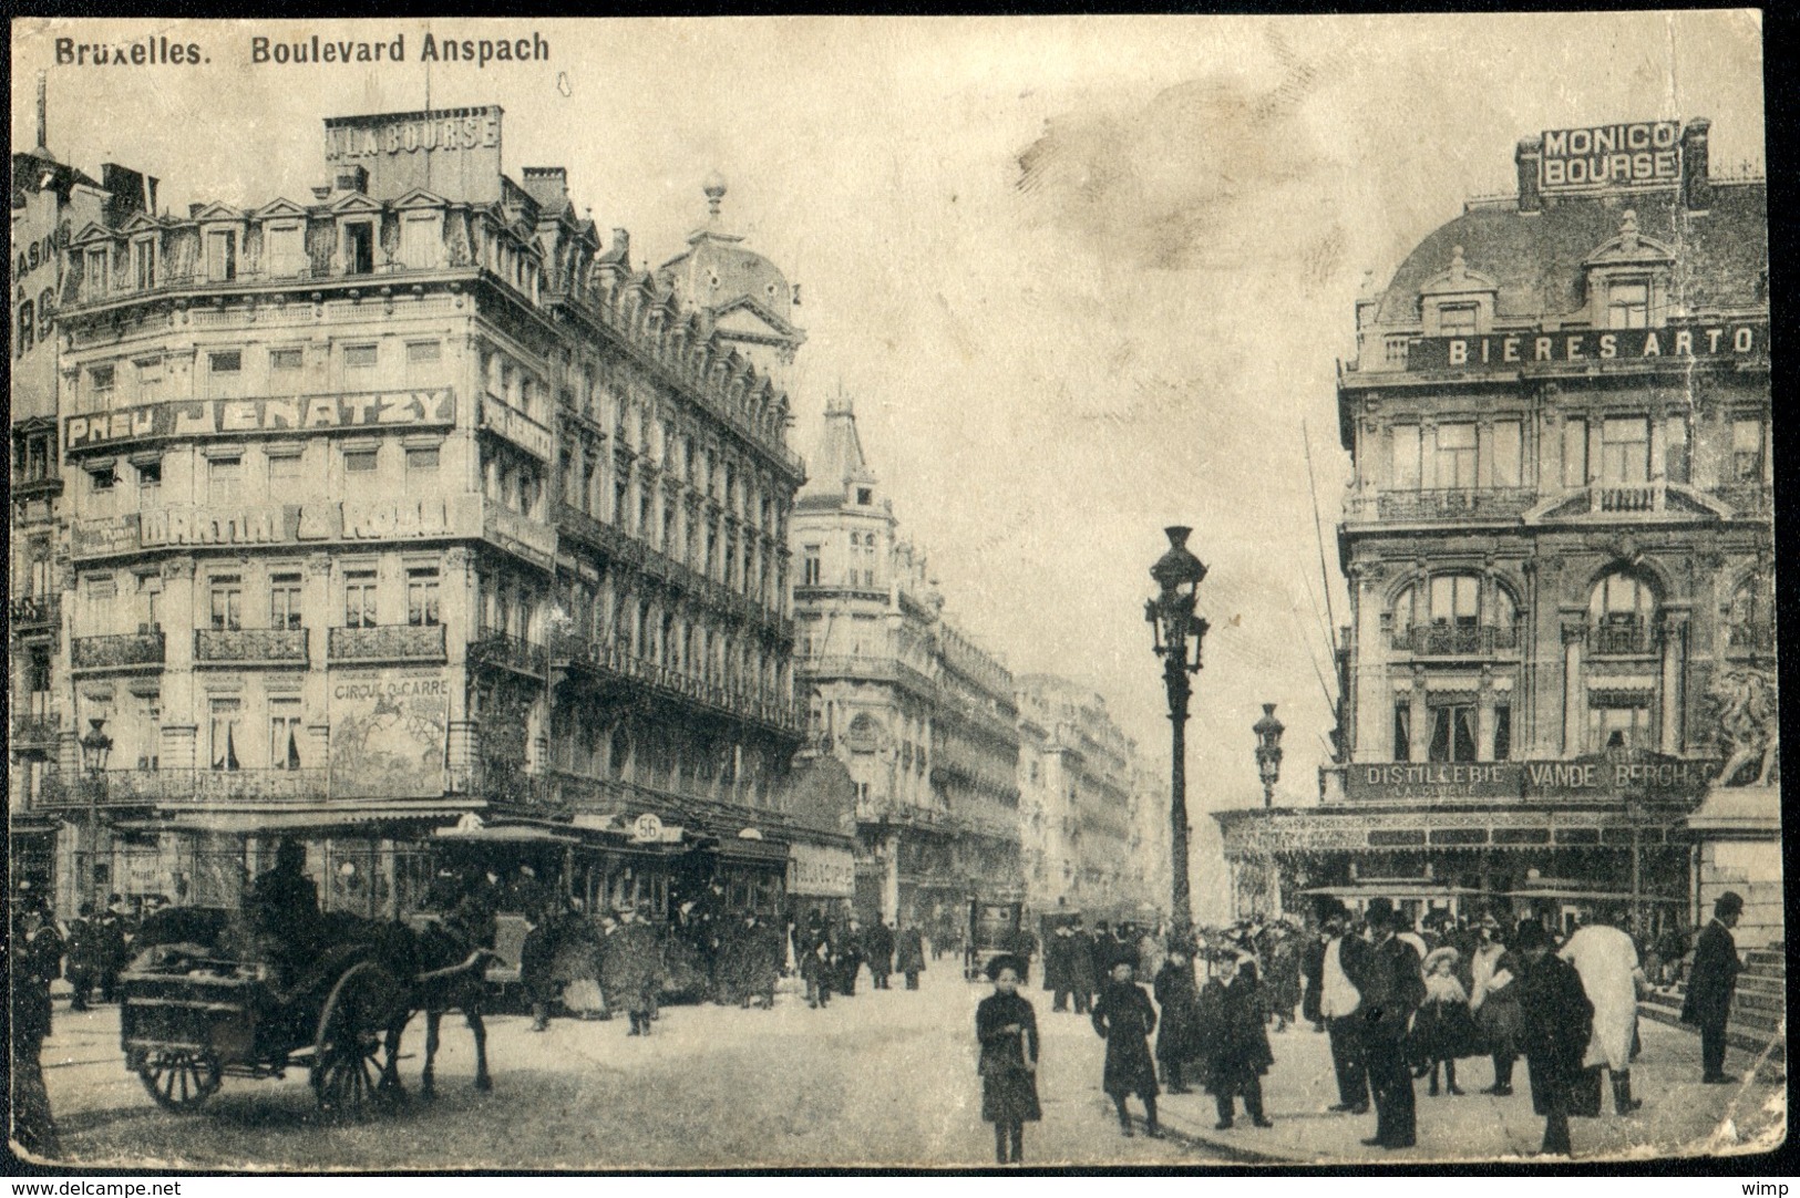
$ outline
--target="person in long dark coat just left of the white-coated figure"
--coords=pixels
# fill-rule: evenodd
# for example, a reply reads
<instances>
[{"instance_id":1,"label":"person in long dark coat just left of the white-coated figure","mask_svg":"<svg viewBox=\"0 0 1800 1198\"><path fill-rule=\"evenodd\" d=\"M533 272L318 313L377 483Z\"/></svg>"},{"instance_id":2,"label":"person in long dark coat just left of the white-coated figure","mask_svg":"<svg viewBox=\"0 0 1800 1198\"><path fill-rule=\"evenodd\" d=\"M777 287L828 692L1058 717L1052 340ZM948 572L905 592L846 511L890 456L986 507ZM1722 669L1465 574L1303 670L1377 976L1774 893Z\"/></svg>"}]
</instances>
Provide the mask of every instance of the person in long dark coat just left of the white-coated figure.
<instances>
[{"instance_id":1,"label":"person in long dark coat just left of the white-coated figure","mask_svg":"<svg viewBox=\"0 0 1800 1198\"><path fill-rule=\"evenodd\" d=\"M1575 966L1550 952L1550 934L1537 919L1519 921L1512 948L1523 971L1519 1047L1532 1079L1532 1110L1544 1117L1539 1151L1568 1157L1570 1101L1593 1033L1593 1004Z\"/></svg>"}]
</instances>

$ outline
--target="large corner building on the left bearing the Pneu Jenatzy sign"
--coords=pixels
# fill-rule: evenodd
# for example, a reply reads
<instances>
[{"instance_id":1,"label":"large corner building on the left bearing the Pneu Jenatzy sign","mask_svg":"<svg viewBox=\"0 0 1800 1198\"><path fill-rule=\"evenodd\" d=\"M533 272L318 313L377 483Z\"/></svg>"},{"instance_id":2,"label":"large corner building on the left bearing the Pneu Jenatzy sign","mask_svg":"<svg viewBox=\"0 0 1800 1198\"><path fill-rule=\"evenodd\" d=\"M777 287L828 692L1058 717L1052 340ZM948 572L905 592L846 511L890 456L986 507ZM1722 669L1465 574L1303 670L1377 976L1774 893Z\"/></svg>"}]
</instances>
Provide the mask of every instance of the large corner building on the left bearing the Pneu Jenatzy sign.
<instances>
[{"instance_id":1,"label":"large corner building on the left bearing the Pneu Jenatzy sign","mask_svg":"<svg viewBox=\"0 0 1800 1198\"><path fill-rule=\"evenodd\" d=\"M234 901L297 835L331 905L401 912L482 813L554 829L580 903L781 903L790 291L722 180L634 273L500 122L328 119L302 201L72 237L59 664L113 743L47 779L65 856L104 827L68 885Z\"/></svg>"}]
</instances>

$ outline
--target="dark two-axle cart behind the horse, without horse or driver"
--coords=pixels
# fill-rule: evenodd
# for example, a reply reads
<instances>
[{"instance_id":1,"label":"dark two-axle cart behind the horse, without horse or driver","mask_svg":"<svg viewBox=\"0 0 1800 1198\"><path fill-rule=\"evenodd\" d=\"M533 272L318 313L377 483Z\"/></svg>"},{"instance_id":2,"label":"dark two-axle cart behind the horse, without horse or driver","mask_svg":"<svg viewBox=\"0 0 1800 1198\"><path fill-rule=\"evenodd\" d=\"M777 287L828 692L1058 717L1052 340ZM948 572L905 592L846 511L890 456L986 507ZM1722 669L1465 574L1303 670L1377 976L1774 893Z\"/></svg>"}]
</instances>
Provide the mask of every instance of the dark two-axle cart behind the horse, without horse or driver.
<instances>
[{"instance_id":1,"label":"dark two-axle cart behind the horse, without horse or driver","mask_svg":"<svg viewBox=\"0 0 1800 1198\"><path fill-rule=\"evenodd\" d=\"M392 1061L405 984L376 937L344 937L283 979L221 908L176 908L146 923L121 977L119 1040L158 1106L198 1110L225 1076L306 1068L319 1108L360 1113Z\"/></svg>"}]
</instances>

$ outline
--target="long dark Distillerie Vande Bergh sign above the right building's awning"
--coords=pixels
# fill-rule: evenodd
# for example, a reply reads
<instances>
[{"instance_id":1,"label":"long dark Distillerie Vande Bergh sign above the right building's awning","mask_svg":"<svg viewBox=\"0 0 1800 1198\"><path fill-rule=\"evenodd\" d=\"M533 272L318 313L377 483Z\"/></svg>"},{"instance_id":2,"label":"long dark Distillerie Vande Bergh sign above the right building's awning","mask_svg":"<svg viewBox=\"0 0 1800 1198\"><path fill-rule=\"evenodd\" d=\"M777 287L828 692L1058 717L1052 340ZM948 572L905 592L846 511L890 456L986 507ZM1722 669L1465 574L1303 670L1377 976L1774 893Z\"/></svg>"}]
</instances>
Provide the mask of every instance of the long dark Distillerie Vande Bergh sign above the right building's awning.
<instances>
[{"instance_id":1,"label":"long dark Distillerie Vande Bergh sign above the right building's awning","mask_svg":"<svg viewBox=\"0 0 1800 1198\"><path fill-rule=\"evenodd\" d=\"M1384 761L1352 764L1345 795L1357 802L1444 802L1481 799L1649 799L1696 800L1717 761L1687 761L1645 750L1570 761Z\"/></svg>"}]
</instances>

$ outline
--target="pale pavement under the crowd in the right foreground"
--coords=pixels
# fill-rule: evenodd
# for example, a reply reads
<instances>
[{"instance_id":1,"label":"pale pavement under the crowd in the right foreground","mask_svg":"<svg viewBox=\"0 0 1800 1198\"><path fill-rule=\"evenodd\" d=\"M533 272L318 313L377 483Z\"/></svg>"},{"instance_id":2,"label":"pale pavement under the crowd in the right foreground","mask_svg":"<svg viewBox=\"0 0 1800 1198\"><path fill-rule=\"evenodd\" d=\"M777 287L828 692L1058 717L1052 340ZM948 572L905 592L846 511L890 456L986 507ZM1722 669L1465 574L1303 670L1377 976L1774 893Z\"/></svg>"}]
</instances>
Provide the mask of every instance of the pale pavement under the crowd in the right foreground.
<instances>
[{"instance_id":1,"label":"pale pavement under the crowd in the right foreground","mask_svg":"<svg viewBox=\"0 0 1800 1198\"><path fill-rule=\"evenodd\" d=\"M1611 1113L1606 1088L1598 1119L1571 1119L1570 1139L1577 1160L1647 1158L1670 1155L1726 1155L1773 1148L1787 1121L1787 1092L1780 1085L1746 1081L1733 1086L1701 1085L1699 1036L1640 1020L1643 1052L1631 1068L1633 1097L1643 1106L1629 1115ZM1534 1158L1543 1142L1544 1121L1532 1113L1532 1088L1525 1061L1514 1070L1512 1097L1480 1094L1494 1081L1487 1058L1458 1061L1462 1097L1427 1097L1427 1081L1413 1083L1418 1106L1418 1144L1406 1149L1368 1148L1375 1113L1332 1113L1337 1085L1327 1036L1300 1024L1269 1036L1274 1067L1262 1079L1264 1106L1273 1128L1249 1126L1238 1103L1237 1126L1217 1131L1210 1094L1175 1094L1161 1101L1163 1124L1183 1140L1224 1149L1244 1160L1318 1164L1418 1164L1436 1160ZM1748 1074L1753 1058L1732 1050L1726 1070Z\"/></svg>"}]
</instances>

